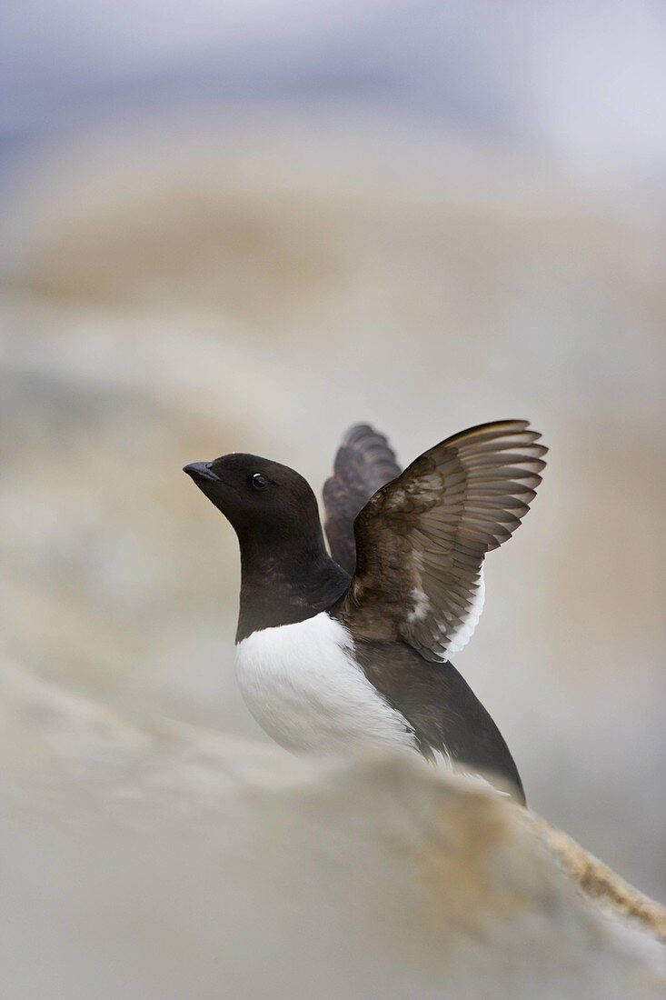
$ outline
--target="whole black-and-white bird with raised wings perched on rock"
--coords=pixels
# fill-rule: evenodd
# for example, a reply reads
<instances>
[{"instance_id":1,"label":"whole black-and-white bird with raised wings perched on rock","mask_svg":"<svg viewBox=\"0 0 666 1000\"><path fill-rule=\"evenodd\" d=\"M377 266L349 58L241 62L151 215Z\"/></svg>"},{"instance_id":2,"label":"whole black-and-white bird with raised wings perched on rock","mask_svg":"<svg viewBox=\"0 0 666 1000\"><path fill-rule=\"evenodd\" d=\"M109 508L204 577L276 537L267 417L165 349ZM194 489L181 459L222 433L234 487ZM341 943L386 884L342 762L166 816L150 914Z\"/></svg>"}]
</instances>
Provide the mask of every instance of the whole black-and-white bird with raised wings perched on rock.
<instances>
[{"instance_id":1,"label":"whole black-and-white bird with raised wings perched on rock","mask_svg":"<svg viewBox=\"0 0 666 1000\"><path fill-rule=\"evenodd\" d=\"M406 747L521 805L514 759L450 662L481 614L488 552L532 503L547 448L527 420L454 434L404 470L369 424L317 498L293 469L233 452L184 467L236 532L235 665L259 725L296 753Z\"/></svg>"}]
</instances>

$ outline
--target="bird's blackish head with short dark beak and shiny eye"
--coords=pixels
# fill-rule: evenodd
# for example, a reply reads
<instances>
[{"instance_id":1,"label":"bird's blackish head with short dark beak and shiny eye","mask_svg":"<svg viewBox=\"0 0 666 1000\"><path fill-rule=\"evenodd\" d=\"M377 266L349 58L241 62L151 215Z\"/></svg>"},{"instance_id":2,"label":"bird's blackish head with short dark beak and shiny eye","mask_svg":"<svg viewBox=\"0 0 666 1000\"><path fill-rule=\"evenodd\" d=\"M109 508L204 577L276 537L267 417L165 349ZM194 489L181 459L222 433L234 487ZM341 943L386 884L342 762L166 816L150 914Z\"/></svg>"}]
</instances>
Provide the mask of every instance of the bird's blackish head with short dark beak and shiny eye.
<instances>
[{"instance_id":1,"label":"bird's blackish head with short dark beak and shiny eye","mask_svg":"<svg viewBox=\"0 0 666 1000\"><path fill-rule=\"evenodd\" d=\"M249 539L274 544L322 537L315 495L286 465L233 453L213 462L193 462L183 472L224 514L241 544Z\"/></svg>"}]
</instances>

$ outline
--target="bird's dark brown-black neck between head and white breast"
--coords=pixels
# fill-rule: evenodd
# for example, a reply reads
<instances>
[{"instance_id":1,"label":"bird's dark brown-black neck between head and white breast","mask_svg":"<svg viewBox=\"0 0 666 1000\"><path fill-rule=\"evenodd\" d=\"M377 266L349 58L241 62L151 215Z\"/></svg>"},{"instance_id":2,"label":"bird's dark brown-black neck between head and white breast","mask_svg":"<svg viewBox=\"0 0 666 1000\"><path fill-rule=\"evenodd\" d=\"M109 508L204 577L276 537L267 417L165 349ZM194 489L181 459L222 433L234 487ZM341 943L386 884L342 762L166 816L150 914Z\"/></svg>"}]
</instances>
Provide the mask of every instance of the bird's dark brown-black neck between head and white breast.
<instances>
[{"instance_id":1,"label":"bird's dark brown-black neck between head and white breast","mask_svg":"<svg viewBox=\"0 0 666 1000\"><path fill-rule=\"evenodd\" d=\"M330 608L349 576L326 552L321 531L310 539L240 539L241 594L236 642L252 632L312 618Z\"/></svg>"}]
</instances>

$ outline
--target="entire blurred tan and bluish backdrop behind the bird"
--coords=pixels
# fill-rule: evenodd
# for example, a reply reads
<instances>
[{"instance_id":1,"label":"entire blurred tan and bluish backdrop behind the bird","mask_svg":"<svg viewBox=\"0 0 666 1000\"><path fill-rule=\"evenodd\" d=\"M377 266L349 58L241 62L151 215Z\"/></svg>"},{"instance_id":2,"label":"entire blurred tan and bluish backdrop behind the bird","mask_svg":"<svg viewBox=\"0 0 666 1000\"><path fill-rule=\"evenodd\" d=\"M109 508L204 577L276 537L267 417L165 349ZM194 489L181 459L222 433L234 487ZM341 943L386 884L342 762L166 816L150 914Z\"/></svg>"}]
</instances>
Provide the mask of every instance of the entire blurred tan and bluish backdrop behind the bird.
<instances>
[{"instance_id":1,"label":"entire blurred tan and bluish backdrop behind the bird","mask_svg":"<svg viewBox=\"0 0 666 1000\"><path fill-rule=\"evenodd\" d=\"M407 463L527 417L543 486L455 663L530 805L666 900L663 5L1 17L8 660L267 742L235 538L182 465L254 452L319 490L355 421Z\"/></svg>"}]
</instances>

